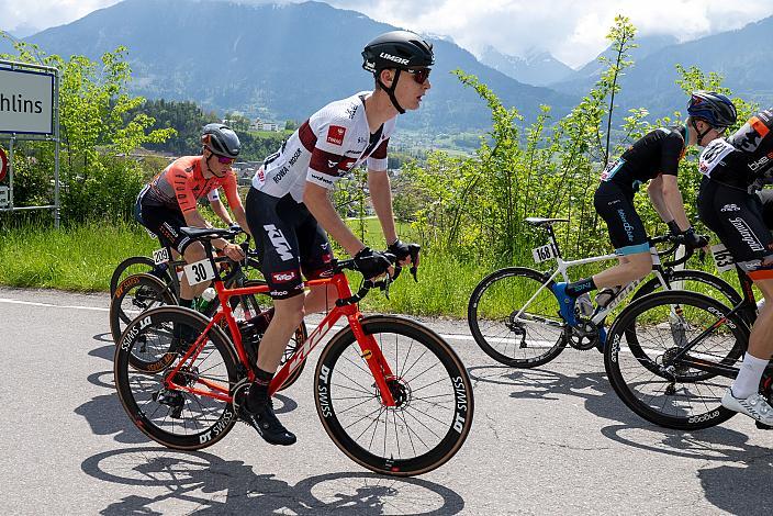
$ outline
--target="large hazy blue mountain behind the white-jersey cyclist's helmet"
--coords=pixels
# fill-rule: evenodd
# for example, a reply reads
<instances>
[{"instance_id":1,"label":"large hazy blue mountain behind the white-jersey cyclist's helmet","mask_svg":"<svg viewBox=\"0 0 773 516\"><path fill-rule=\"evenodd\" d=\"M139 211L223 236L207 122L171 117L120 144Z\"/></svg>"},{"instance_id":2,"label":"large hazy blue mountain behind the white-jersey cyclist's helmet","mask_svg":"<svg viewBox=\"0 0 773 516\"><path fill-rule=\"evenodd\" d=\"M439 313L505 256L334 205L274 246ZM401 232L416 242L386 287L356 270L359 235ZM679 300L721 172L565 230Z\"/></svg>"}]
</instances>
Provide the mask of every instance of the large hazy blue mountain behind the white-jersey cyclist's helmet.
<instances>
[{"instance_id":1,"label":"large hazy blue mountain behind the white-jersey cyclist's helmet","mask_svg":"<svg viewBox=\"0 0 773 516\"><path fill-rule=\"evenodd\" d=\"M326 3L245 5L205 0L125 0L25 38L49 53L97 59L128 48L134 93L194 100L269 120L305 120L326 103L372 89L360 52L395 27ZM433 40L436 66L423 106L401 125L446 131L490 125L478 94L450 71L478 76L529 120L549 103L567 112L573 97L519 83L456 44Z\"/></svg>"}]
</instances>

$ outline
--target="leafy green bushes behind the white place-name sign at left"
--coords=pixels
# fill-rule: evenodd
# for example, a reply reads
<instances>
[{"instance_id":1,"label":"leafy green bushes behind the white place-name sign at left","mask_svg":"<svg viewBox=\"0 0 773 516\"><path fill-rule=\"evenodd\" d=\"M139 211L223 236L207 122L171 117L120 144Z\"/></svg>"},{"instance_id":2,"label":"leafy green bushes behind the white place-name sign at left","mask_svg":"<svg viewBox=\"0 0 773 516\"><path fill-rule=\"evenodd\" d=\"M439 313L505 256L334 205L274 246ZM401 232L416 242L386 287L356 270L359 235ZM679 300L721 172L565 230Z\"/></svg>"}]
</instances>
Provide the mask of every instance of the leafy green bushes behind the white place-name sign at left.
<instances>
[{"instance_id":1,"label":"leafy green bushes behind the white place-name sign at left","mask_svg":"<svg viewBox=\"0 0 773 516\"><path fill-rule=\"evenodd\" d=\"M9 38L2 32L0 35ZM154 120L142 113L126 116L144 102L142 97L127 93L131 69L126 49L119 47L108 52L101 63L96 63L83 56L65 60L57 55L46 55L36 45L12 43L16 54L2 55L4 59L42 60L60 74L63 220L79 222L89 217L130 216L133 199L142 187L142 173L139 166L125 156L143 144L163 142L173 134L173 130L150 130ZM32 179L40 177L41 170L54 168L54 149L49 144L29 142L19 145L14 158L26 161L19 167L22 183L27 180L25 175ZM53 197L48 186L43 192ZM40 202L31 197L19 201L20 204Z\"/></svg>"}]
</instances>

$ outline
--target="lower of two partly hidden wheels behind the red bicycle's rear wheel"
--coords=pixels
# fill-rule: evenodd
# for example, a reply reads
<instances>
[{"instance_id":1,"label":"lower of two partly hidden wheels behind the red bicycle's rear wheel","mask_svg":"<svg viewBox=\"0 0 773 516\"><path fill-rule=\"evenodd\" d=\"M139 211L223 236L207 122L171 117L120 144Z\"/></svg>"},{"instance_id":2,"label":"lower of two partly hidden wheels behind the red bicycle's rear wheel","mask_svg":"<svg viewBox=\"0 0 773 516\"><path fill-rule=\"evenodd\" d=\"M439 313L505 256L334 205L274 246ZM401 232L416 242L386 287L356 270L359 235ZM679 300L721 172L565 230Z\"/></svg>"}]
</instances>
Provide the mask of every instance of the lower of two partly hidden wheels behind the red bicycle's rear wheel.
<instances>
[{"instance_id":1,"label":"lower of two partly hidden wheels behind the red bicycle's rear wheel","mask_svg":"<svg viewBox=\"0 0 773 516\"><path fill-rule=\"evenodd\" d=\"M128 301L127 301L128 300ZM126 304L128 303L128 304ZM147 310L160 305L176 305L177 299L166 284L152 274L132 274L119 284L115 295L110 300L110 334L113 343L119 343L128 324ZM136 312L128 309L137 309ZM133 352L131 364L137 370L149 367L139 354L139 347Z\"/></svg>"}]
</instances>

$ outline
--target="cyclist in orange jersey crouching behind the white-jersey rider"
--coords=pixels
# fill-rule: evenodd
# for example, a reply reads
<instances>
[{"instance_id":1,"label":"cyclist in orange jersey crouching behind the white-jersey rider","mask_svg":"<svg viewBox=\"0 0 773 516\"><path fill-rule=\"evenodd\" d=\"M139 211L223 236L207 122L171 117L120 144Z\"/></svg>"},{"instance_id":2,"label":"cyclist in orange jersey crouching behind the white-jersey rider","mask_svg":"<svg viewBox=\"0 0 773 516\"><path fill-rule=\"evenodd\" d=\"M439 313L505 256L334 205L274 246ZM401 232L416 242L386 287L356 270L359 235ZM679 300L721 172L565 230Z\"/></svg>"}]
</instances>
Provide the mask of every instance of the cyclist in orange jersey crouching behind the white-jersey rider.
<instances>
[{"instance_id":1,"label":"cyclist in orange jersey crouching behind the white-jersey rider","mask_svg":"<svg viewBox=\"0 0 773 516\"><path fill-rule=\"evenodd\" d=\"M225 190L236 222L247 229L242 200L236 187L236 175L231 166L239 154L240 143L236 133L223 124L208 124L201 133L202 154L176 159L150 181L137 195L135 218L158 236L163 245L172 249L188 263L206 258L201 243L191 242L180 233L182 226L211 227L199 213L197 200L208 197L213 210L226 224L232 220L216 191ZM214 193L213 193L214 192ZM244 259L242 248L222 238L212 245L234 260ZM191 287L188 279L180 282L180 305L191 307L193 299L206 289L208 283Z\"/></svg>"}]
</instances>

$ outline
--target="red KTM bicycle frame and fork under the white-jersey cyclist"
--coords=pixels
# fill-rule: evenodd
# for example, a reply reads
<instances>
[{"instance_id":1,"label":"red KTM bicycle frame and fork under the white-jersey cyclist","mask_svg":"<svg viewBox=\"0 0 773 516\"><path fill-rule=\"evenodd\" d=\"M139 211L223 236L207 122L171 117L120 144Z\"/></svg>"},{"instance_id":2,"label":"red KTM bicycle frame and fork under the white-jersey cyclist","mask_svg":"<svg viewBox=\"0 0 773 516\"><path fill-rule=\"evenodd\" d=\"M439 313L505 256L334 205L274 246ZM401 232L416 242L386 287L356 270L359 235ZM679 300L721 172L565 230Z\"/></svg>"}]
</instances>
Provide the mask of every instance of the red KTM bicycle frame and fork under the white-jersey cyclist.
<instances>
[{"instance_id":1,"label":"red KTM bicycle frame and fork under the white-jersey cyclist","mask_svg":"<svg viewBox=\"0 0 773 516\"><path fill-rule=\"evenodd\" d=\"M311 280L306 282L306 287L321 287L333 284L336 288L339 300L346 300L352 296L351 289L349 288L349 281L346 274L343 272L337 272L333 274L332 278L321 278L317 280ZM198 378L198 382L205 385L209 390L204 391L194 386L180 385L175 380L177 378L184 378L184 371L178 377L178 372L181 371L183 366L190 360L193 362L199 354L204 348L206 339L202 338L206 335L215 325L221 325L222 321L228 325L231 330L232 340L236 349L239 362L242 362L247 369L247 379L251 382L255 380L255 372L248 363L247 352L242 345L242 334L239 327L234 318L233 311L231 310L231 304L228 300L235 295L251 295L258 293L269 292L269 287L267 284L258 287L243 287L236 289L226 289L223 280L221 278L215 278L214 287L217 291L217 299L220 300L220 309L212 317L210 323L206 325L204 332L197 338L195 343L188 349L188 351L182 357L182 360L175 367L170 374L167 374L166 386L172 390L181 390L190 392L193 394L199 394L209 397L215 397L217 400L226 401L231 403L233 396L231 395L231 386L223 385L221 382L213 382L205 378ZM351 330L355 334L355 338L360 346L361 357L365 359L370 372L373 374L373 380L376 381L376 386L379 389L381 395L381 401L384 406L395 406L394 397L389 389L388 380L394 379L392 369L386 363L386 359L381 352L381 348L376 343L372 335L368 335L362 329L360 321L362 314L356 303L351 304L336 304L334 309L325 315L320 325L314 329L314 332L309 335L303 344L295 349L295 352L290 357L290 359L282 366L279 371L271 380L269 384L269 395L273 395L282 383L288 379L288 377L309 357L314 347L320 344L322 338L329 332L329 329L338 322L339 318L346 317Z\"/></svg>"}]
</instances>

